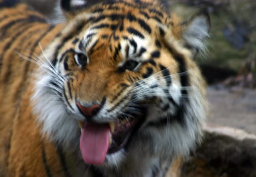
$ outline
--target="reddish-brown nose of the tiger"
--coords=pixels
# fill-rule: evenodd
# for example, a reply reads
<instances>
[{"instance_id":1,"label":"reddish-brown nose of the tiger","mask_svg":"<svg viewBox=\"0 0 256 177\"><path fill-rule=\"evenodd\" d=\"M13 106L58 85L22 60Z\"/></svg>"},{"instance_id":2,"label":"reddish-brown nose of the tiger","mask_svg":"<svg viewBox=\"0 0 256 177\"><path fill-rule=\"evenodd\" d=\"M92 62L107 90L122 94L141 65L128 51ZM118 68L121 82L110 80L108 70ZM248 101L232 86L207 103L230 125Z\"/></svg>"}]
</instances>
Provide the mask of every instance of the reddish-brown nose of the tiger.
<instances>
[{"instance_id":1,"label":"reddish-brown nose of the tiger","mask_svg":"<svg viewBox=\"0 0 256 177\"><path fill-rule=\"evenodd\" d=\"M76 102L76 104L77 104L79 110L81 111L81 113L87 118L91 118L92 116L96 115L100 110L99 104L82 106L78 101Z\"/></svg>"}]
</instances>

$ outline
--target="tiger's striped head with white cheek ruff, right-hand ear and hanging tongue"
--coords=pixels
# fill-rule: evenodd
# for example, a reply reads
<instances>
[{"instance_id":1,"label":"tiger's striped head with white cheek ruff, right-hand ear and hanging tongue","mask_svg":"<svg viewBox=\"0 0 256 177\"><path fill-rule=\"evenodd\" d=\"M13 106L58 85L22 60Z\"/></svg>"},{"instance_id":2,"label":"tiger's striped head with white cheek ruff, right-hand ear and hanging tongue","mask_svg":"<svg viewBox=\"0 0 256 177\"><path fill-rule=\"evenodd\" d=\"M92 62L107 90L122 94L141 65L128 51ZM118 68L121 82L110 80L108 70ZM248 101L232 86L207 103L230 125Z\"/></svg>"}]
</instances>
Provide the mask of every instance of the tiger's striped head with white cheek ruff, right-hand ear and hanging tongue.
<instances>
[{"instance_id":1,"label":"tiger's striped head with white cheek ruff, right-hand ear and hanging tongue","mask_svg":"<svg viewBox=\"0 0 256 177\"><path fill-rule=\"evenodd\" d=\"M155 3L98 7L72 16L41 57L33 102L43 132L94 165L187 154L206 116L192 57L208 19L181 24Z\"/></svg>"}]
</instances>

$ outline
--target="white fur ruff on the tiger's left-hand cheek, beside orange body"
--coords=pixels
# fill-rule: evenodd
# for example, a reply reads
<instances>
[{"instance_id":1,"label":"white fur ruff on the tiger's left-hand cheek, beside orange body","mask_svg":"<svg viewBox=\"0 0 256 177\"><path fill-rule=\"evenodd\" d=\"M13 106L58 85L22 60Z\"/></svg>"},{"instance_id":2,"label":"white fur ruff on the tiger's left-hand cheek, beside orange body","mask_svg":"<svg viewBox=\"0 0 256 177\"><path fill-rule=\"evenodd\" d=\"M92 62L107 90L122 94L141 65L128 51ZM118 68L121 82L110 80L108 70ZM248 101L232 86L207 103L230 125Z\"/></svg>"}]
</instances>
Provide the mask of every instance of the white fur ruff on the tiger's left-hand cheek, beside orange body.
<instances>
[{"instance_id":1,"label":"white fur ruff on the tiger's left-hand cheek, beside orange body","mask_svg":"<svg viewBox=\"0 0 256 177\"><path fill-rule=\"evenodd\" d=\"M33 111L38 115L37 120L42 123L42 132L54 142L64 147L77 148L80 129L76 119L66 111L63 101L49 89L51 76L44 73L35 83L35 92L32 97Z\"/></svg>"}]
</instances>

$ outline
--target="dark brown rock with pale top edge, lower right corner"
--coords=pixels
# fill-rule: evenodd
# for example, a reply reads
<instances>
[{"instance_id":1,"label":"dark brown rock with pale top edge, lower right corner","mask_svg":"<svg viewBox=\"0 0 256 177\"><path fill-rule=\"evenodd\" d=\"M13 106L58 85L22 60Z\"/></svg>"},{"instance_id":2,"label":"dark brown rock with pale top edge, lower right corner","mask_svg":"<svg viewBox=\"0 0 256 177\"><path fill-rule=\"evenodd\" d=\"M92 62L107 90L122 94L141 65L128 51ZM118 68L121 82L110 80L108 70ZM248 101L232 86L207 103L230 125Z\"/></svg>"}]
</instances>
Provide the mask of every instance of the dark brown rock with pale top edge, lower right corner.
<instances>
[{"instance_id":1,"label":"dark brown rock with pale top edge, lower right corner","mask_svg":"<svg viewBox=\"0 0 256 177\"><path fill-rule=\"evenodd\" d=\"M204 131L202 145L181 164L180 177L256 176L256 135L222 126Z\"/></svg>"}]
</instances>

